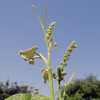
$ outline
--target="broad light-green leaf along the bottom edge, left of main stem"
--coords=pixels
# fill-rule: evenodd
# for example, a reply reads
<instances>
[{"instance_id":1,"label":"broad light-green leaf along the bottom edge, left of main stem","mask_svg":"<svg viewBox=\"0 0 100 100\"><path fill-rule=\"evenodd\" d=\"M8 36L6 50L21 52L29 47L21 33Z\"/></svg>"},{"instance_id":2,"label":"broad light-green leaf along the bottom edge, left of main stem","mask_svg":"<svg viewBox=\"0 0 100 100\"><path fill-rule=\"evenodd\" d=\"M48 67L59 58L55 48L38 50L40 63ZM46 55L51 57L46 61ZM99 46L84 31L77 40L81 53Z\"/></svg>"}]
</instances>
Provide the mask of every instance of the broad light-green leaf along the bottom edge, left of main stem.
<instances>
[{"instance_id":1,"label":"broad light-green leaf along the bottom edge, left of main stem","mask_svg":"<svg viewBox=\"0 0 100 100\"><path fill-rule=\"evenodd\" d=\"M5 100L50 100L48 97L39 94L25 94L19 93L15 94Z\"/></svg>"}]
</instances>

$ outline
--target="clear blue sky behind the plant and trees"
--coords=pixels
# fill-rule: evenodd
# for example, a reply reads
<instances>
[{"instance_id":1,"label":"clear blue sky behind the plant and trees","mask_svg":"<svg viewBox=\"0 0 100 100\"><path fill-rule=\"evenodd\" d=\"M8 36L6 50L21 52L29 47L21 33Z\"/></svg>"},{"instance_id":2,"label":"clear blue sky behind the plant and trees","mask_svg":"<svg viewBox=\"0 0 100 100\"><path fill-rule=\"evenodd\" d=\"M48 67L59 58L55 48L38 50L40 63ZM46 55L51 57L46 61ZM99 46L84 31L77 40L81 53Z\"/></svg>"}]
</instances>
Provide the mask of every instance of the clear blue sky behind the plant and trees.
<instances>
[{"instance_id":1,"label":"clear blue sky behind the plant and trees","mask_svg":"<svg viewBox=\"0 0 100 100\"><path fill-rule=\"evenodd\" d=\"M31 6L36 6L43 21L46 2L46 29L56 22L53 42L58 46L51 51L54 72L70 43L75 40L78 45L64 68L68 82L76 68L74 79L93 73L100 80L100 0L0 0L0 81L9 79L20 85L32 85L40 94L50 97L49 85L42 82L40 72L46 68L45 63L37 59L32 66L18 56L19 50L38 46L37 52L47 57L44 33ZM57 91L55 80L54 90Z\"/></svg>"}]
</instances>

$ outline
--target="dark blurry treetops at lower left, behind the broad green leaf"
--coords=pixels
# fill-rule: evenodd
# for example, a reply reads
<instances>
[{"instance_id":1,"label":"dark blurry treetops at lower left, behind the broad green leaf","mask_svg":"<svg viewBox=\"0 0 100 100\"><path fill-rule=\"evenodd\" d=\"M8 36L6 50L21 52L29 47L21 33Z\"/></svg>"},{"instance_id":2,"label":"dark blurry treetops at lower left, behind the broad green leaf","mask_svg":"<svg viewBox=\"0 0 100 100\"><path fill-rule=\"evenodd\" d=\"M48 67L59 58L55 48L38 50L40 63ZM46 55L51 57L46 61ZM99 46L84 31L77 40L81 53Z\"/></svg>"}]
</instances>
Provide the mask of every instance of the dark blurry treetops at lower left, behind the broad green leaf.
<instances>
[{"instance_id":1,"label":"dark blurry treetops at lower left, behind the broad green leaf","mask_svg":"<svg viewBox=\"0 0 100 100\"><path fill-rule=\"evenodd\" d=\"M7 80L5 84L3 82L0 83L0 100L4 100L16 93L38 94L38 89L33 89L33 87L29 87L27 85L19 86L17 82L12 82L10 84L9 80Z\"/></svg>"}]
</instances>

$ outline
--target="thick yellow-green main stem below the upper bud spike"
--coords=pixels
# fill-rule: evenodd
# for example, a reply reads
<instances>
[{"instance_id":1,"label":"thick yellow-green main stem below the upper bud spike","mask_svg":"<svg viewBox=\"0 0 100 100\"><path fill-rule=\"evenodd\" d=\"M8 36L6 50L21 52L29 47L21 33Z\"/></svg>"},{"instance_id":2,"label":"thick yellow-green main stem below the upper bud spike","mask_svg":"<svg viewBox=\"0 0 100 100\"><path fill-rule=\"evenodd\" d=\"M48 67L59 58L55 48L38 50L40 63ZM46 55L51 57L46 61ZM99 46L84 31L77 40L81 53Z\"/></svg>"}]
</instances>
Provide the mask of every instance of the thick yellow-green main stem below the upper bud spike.
<instances>
[{"instance_id":1,"label":"thick yellow-green main stem below the upper bud spike","mask_svg":"<svg viewBox=\"0 0 100 100\"><path fill-rule=\"evenodd\" d=\"M52 73L51 73L51 67L50 67L50 48L48 48L48 65L47 65L47 68L48 68L49 88L50 88L51 100L54 100Z\"/></svg>"}]
</instances>

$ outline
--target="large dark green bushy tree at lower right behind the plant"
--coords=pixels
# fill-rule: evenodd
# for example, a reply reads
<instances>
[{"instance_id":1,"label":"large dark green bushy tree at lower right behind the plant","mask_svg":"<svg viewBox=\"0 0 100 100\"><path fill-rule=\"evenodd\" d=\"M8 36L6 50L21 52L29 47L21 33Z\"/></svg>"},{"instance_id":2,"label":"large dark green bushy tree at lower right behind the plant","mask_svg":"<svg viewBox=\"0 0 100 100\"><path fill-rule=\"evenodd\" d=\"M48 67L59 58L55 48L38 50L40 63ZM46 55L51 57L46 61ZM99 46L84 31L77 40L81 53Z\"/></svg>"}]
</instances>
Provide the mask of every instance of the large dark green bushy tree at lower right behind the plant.
<instances>
[{"instance_id":1,"label":"large dark green bushy tree at lower right behind the plant","mask_svg":"<svg viewBox=\"0 0 100 100\"><path fill-rule=\"evenodd\" d=\"M86 79L76 79L68 87L62 87L64 100L100 100L100 80L90 74Z\"/></svg>"}]
</instances>

